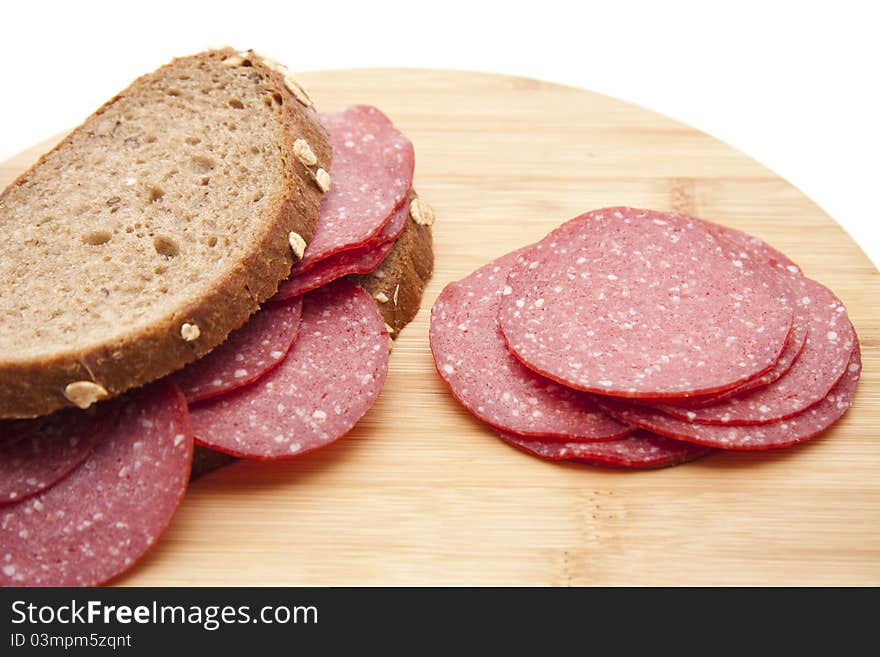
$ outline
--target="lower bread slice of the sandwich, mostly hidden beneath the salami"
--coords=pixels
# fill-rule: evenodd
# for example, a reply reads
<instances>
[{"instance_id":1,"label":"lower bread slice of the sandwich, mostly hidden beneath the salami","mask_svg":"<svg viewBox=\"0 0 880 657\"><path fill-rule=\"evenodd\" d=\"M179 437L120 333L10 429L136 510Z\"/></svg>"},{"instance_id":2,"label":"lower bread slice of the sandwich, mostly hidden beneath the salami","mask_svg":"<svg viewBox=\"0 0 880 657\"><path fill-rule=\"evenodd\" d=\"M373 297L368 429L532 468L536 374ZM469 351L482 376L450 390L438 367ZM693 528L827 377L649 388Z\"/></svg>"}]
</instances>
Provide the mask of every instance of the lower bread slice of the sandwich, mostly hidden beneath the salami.
<instances>
[{"instance_id":1,"label":"lower bread slice of the sandwich, mostly hidden beneath the salami","mask_svg":"<svg viewBox=\"0 0 880 657\"><path fill-rule=\"evenodd\" d=\"M388 257L374 272L352 276L376 300L395 339L419 311L425 286L434 272L433 211L417 199L415 192L410 192L410 204L416 200L415 211L410 212L410 221ZM234 460L228 454L196 445L191 478L197 479Z\"/></svg>"}]
</instances>

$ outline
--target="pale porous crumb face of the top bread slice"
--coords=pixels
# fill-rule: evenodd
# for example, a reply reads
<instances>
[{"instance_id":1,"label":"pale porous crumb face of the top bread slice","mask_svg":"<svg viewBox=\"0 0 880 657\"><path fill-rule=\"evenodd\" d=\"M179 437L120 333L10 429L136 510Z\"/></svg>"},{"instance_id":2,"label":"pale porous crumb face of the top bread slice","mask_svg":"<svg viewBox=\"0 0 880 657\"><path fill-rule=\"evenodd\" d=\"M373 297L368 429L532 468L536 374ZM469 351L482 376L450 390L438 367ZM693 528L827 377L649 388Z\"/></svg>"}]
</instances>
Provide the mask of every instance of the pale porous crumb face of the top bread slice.
<instances>
[{"instance_id":1,"label":"pale porous crumb face of the top bread slice","mask_svg":"<svg viewBox=\"0 0 880 657\"><path fill-rule=\"evenodd\" d=\"M142 78L3 196L0 353L149 325L258 240L282 177L275 101L253 67L217 69Z\"/></svg>"}]
</instances>

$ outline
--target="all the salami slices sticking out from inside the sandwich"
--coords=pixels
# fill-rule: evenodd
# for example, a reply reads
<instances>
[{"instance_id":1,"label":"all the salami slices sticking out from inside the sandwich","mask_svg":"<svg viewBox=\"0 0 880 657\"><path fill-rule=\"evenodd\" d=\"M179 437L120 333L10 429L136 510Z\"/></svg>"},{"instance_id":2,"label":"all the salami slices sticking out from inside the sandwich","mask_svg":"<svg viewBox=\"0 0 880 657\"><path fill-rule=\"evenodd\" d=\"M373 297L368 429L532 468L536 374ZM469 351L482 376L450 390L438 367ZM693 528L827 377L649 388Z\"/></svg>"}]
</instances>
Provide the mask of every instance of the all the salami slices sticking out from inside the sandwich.
<instances>
[{"instance_id":1,"label":"all the salami slices sticking out from inside the sandwich","mask_svg":"<svg viewBox=\"0 0 880 657\"><path fill-rule=\"evenodd\" d=\"M96 585L161 536L194 447L281 459L346 434L376 400L389 329L348 274L378 266L412 198L412 144L377 109L322 115L332 184L290 280L207 356L145 388L0 422L0 584ZM293 245L292 245L293 246Z\"/></svg>"}]
</instances>

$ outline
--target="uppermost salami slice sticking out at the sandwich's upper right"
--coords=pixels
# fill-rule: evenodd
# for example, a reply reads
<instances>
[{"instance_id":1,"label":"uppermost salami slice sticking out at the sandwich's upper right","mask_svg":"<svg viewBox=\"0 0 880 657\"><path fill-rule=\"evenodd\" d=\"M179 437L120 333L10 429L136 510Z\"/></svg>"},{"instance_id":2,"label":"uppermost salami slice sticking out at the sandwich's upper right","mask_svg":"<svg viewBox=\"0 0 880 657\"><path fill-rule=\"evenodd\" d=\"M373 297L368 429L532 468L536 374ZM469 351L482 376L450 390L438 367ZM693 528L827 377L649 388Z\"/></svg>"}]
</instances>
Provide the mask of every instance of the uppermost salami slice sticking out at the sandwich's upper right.
<instances>
[{"instance_id":1,"label":"uppermost salami slice sticking out at the sandwich's upper right","mask_svg":"<svg viewBox=\"0 0 880 657\"><path fill-rule=\"evenodd\" d=\"M330 190L321 202L315 235L291 276L377 235L412 186L412 143L378 109L356 105L322 114L321 121L333 147Z\"/></svg>"}]
</instances>

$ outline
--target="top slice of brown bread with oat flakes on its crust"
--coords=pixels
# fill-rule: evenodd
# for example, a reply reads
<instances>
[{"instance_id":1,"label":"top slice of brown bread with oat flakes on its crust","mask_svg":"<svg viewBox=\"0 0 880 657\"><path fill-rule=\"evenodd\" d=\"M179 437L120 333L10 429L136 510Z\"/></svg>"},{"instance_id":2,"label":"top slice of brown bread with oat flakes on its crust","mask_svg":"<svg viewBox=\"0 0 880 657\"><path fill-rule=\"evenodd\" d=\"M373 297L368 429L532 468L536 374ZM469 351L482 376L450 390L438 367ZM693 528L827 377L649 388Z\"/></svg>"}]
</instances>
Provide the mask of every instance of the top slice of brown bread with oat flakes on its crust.
<instances>
[{"instance_id":1,"label":"top slice of brown bread with oat flakes on its crust","mask_svg":"<svg viewBox=\"0 0 880 657\"><path fill-rule=\"evenodd\" d=\"M252 52L176 59L106 103L0 195L0 418L220 344L311 238L330 157L308 96Z\"/></svg>"}]
</instances>

